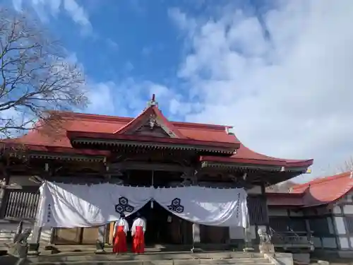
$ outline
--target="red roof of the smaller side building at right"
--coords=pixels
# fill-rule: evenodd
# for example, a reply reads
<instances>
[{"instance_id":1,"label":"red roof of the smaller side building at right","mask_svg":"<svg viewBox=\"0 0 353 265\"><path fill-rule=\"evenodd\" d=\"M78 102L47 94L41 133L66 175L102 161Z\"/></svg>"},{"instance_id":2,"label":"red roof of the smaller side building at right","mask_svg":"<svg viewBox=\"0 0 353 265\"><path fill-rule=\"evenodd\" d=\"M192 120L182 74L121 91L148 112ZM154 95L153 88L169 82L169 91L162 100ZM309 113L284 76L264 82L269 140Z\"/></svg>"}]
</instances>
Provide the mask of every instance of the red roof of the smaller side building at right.
<instances>
[{"instance_id":1,"label":"red roof of the smaller side building at right","mask_svg":"<svg viewBox=\"0 0 353 265\"><path fill-rule=\"evenodd\" d=\"M292 194L304 194L305 206L330 204L353 189L352 172L314 179L311 182L292 187Z\"/></svg>"}]
</instances>

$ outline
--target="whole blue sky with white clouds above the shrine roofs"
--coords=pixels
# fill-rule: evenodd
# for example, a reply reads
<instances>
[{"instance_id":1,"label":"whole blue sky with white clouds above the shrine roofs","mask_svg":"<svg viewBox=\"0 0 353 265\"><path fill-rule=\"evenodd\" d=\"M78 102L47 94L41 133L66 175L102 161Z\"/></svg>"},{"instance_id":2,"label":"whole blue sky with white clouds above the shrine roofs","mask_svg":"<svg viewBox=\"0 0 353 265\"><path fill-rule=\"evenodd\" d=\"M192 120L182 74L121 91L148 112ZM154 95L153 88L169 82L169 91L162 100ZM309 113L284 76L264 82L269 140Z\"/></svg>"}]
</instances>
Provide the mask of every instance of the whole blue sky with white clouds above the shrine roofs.
<instances>
[{"instance_id":1,"label":"whole blue sky with white clouds above the shrine roofs","mask_svg":"<svg viewBox=\"0 0 353 265\"><path fill-rule=\"evenodd\" d=\"M86 112L136 116L152 93L173 120L234 126L249 148L353 155L353 1L2 0L27 8L85 72Z\"/></svg>"}]
</instances>

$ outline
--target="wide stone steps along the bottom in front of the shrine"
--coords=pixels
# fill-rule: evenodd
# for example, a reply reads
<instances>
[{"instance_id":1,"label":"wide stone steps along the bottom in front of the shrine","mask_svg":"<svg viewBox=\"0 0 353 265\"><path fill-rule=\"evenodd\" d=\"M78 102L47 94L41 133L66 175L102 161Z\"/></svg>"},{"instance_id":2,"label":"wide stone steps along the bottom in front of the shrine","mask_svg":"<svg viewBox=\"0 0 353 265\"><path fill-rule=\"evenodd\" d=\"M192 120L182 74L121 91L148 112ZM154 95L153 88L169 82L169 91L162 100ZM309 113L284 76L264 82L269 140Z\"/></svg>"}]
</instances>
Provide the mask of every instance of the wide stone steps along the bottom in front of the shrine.
<instances>
[{"instance_id":1,"label":"wide stone steps along the bottom in front of the shrine","mask_svg":"<svg viewBox=\"0 0 353 265\"><path fill-rule=\"evenodd\" d=\"M0 257L1 265L12 265L13 257ZM136 254L92 254L92 252L61 252L28 257L31 265L271 265L260 253L246 252L147 252Z\"/></svg>"}]
</instances>

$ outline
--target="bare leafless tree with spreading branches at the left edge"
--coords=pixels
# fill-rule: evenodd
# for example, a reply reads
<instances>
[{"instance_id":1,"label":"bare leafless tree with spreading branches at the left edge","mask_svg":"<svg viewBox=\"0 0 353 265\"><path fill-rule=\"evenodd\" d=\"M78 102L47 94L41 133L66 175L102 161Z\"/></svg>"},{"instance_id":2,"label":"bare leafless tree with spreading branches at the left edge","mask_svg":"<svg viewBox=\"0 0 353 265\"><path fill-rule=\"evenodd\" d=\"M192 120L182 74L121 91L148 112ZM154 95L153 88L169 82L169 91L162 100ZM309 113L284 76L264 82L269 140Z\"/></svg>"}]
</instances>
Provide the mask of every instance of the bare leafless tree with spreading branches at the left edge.
<instances>
[{"instance_id":1,"label":"bare leafless tree with spreading branches at the left edge","mask_svg":"<svg viewBox=\"0 0 353 265\"><path fill-rule=\"evenodd\" d=\"M0 8L0 137L33 126L56 128L55 111L88 104L80 67L30 16ZM54 112L48 112L53 110Z\"/></svg>"}]
</instances>

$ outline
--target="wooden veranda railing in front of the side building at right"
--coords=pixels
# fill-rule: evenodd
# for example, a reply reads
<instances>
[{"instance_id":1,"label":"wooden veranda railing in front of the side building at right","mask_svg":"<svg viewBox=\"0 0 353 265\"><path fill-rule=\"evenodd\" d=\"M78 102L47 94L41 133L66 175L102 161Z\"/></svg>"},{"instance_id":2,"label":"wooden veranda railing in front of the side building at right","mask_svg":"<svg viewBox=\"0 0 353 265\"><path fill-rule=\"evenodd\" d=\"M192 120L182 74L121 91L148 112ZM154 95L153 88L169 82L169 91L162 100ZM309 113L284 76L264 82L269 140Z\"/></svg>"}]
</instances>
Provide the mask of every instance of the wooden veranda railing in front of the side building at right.
<instances>
[{"instance_id":1,"label":"wooden veranda railing in front of the side building at right","mask_svg":"<svg viewBox=\"0 0 353 265\"><path fill-rule=\"evenodd\" d=\"M306 249L310 252L314 250L313 242L308 235L298 235L293 230L277 232L270 228L271 242L277 248L285 250Z\"/></svg>"}]
</instances>

